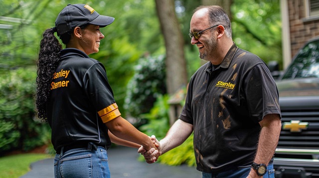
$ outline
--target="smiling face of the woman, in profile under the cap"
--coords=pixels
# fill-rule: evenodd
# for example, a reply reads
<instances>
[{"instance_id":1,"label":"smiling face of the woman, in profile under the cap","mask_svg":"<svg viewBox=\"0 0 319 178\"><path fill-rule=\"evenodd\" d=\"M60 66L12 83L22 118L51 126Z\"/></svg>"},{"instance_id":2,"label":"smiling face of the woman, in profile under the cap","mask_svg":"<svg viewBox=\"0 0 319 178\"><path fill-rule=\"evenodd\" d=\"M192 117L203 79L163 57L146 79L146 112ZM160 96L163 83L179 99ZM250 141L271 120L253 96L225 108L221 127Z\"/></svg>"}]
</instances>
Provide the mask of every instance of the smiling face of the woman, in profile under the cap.
<instances>
[{"instance_id":1,"label":"smiling face of the woman, in profile under the cap","mask_svg":"<svg viewBox=\"0 0 319 178\"><path fill-rule=\"evenodd\" d=\"M82 34L81 47L85 54L99 52L100 41L104 38L104 35L100 31L100 26L89 24Z\"/></svg>"}]
</instances>

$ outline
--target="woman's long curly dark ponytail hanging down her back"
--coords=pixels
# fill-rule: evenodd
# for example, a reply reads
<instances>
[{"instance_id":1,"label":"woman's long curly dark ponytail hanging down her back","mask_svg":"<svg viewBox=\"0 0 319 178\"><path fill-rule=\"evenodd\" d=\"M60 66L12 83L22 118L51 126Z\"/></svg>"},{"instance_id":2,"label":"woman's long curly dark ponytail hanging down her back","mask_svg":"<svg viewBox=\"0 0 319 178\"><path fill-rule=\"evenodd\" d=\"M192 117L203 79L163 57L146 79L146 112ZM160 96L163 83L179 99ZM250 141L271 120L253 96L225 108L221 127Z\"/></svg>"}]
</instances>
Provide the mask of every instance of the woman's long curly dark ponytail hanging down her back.
<instances>
[{"instance_id":1,"label":"woman's long curly dark ponytail hanging down her back","mask_svg":"<svg viewBox=\"0 0 319 178\"><path fill-rule=\"evenodd\" d=\"M38 118L46 119L46 105L50 94L50 81L60 63L62 45L54 36L53 28L46 29L40 42L39 58L36 78L36 108Z\"/></svg>"}]
</instances>

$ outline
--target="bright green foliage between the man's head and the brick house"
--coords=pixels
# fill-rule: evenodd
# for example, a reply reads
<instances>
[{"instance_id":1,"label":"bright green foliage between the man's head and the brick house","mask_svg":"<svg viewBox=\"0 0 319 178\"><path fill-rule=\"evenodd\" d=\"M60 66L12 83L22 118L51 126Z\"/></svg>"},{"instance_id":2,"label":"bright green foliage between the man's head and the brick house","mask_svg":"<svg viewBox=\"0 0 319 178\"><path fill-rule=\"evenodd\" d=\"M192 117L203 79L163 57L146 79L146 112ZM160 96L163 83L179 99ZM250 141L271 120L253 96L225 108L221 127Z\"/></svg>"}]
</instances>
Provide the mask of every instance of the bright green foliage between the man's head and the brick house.
<instances>
[{"instance_id":1,"label":"bright green foliage between the man's head and the brick house","mask_svg":"<svg viewBox=\"0 0 319 178\"><path fill-rule=\"evenodd\" d=\"M282 62L279 0L234 0L233 40L266 63Z\"/></svg>"}]
</instances>

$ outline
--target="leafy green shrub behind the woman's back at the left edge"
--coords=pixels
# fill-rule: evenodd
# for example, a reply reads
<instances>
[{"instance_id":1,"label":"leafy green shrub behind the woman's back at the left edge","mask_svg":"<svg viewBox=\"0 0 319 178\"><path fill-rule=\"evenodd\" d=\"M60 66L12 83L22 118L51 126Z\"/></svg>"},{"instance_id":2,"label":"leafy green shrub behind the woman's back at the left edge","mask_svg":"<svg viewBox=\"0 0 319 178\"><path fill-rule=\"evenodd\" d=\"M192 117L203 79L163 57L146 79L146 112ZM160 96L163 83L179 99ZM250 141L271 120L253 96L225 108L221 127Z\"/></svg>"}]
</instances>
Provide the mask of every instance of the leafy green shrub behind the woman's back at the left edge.
<instances>
[{"instance_id":1,"label":"leafy green shrub behind the woman's back at the left edge","mask_svg":"<svg viewBox=\"0 0 319 178\"><path fill-rule=\"evenodd\" d=\"M45 134L50 128L34 114L36 69L18 68L0 73L0 154L44 145L50 139Z\"/></svg>"}]
</instances>

